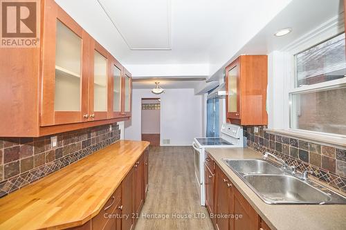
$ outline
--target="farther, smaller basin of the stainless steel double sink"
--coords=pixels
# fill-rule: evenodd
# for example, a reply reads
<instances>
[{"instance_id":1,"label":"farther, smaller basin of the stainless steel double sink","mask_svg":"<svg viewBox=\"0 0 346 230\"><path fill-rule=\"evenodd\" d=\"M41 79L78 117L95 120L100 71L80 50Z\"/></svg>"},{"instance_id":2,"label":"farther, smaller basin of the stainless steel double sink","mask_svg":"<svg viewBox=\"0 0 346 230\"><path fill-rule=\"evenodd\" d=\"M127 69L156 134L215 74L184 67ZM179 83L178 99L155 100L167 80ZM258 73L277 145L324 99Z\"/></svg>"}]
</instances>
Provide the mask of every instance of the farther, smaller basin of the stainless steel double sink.
<instances>
[{"instance_id":1,"label":"farther, smaller basin of the stainless steel double sink","mask_svg":"<svg viewBox=\"0 0 346 230\"><path fill-rule=\"evenodd\" d=\"M277 168L273 164L266 162L265 160L231 160L223 159L224 162L236 171L242 174L284 174L284 171Z\"/></svg>"}]
</instances>

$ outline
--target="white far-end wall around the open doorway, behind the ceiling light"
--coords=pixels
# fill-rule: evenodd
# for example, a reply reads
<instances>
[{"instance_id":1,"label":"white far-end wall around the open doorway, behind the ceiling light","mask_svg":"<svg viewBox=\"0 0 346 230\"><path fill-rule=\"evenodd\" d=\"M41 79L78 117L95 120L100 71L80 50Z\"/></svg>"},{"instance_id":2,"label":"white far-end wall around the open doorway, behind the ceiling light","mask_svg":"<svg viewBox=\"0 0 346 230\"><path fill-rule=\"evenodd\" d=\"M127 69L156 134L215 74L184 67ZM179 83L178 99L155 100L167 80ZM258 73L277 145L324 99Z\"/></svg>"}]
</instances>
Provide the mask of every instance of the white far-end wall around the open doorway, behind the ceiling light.
<instances>
[{"instance_id":1,"label":"white far-end wall around the open doorway, behind the ceiling light","mask_svg":"<svg viewBox=\"0 0 346 230\"><path fill-rule=\"evenodd\" d=\"M167 89L161 95L154 95L149 89L132 90L132 117L125 122L125 139L141 138L142 98L161 98L161 145L191 145L194 137L202 134L202 96L194 95L193 88ZM163 144L170 139L170 144Z\"/></svg>"}]
</instances>

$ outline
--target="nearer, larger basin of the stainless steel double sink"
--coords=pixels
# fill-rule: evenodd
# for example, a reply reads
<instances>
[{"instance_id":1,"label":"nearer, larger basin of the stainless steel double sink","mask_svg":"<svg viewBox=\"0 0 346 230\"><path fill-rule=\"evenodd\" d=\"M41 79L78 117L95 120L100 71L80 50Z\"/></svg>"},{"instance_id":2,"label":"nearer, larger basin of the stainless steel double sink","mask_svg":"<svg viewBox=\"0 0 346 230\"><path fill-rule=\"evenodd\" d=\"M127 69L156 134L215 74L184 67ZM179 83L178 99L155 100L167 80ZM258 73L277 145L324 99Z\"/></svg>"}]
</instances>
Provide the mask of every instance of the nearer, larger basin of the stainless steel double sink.
<instances>
[{"instance_id":1,"label":"nearer, larger basin of the stainless steel double sink","mask_svg":"<svg viewBox=\"0 0 346 230\"><path fill-rule=\"evenodd\" d=\"M327 193L291 175L244 175L244 179L267 203L320 204L331 200Z\"/></svg>"}]
</instances>

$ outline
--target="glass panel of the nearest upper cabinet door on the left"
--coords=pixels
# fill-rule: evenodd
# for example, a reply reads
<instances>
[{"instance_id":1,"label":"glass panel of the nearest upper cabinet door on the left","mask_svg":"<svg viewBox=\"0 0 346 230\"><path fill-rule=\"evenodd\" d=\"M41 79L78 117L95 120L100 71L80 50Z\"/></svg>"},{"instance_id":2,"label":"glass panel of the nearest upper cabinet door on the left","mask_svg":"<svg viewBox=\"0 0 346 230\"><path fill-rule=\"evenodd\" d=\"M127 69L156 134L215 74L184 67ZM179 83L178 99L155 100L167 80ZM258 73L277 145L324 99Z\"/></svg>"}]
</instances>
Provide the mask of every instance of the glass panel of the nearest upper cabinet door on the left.
<instances>
[{"instance_id":1,"label":"glass panel of the nearest upper cabinet door on the left","mask_svg":"<svg viewBox=\"0 0 346 230\"><path fill-rule=\"evenodd\" d=\"M55 111L80 111L82 39L57 20Z\"/></svg>"}]
</instances>

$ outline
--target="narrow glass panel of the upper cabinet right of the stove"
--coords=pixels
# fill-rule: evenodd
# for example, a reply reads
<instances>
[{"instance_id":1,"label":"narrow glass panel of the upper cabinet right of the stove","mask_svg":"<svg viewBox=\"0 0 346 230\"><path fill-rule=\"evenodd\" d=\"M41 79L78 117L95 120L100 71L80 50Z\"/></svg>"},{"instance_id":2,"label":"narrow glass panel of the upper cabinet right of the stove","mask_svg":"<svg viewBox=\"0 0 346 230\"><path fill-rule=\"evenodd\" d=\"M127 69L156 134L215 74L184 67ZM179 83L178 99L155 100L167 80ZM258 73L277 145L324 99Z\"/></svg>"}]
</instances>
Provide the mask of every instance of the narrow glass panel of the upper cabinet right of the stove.
<instances>
[{"instance_id":1,"label":"narrow glass panel of the upper cabinet right of the stove","mask_svg":"<svg viewBox=\"0 0 346 230\"><path fill-rule=\"evenodd\" d=\"M228 71L228 113L237 113L237 66Z\"/></svg>"}]
</instances>

